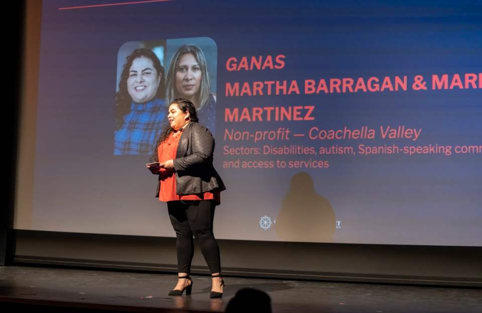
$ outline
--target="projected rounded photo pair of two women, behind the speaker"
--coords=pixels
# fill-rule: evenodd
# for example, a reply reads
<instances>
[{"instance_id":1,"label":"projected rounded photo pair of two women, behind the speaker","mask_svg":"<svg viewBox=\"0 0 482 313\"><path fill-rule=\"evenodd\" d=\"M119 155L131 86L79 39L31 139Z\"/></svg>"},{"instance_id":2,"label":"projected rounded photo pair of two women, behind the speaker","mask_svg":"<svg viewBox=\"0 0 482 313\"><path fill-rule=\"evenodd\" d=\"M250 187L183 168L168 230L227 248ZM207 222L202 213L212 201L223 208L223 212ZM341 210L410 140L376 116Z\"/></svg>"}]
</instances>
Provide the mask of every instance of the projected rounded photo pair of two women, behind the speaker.
<instances>
[{"instance_id":1,"label":"projected rounded photo pair of two women, behind the speaker","mask_svg":"<svg viewBox=\"0 0 482 313\"><path fill-rule=\"evenodd\" d=\"M217 47L210 38L124 44L117 57L114 154L151 154L169 103L191 101L215 134Z\"/></svg>"}]
</instances>

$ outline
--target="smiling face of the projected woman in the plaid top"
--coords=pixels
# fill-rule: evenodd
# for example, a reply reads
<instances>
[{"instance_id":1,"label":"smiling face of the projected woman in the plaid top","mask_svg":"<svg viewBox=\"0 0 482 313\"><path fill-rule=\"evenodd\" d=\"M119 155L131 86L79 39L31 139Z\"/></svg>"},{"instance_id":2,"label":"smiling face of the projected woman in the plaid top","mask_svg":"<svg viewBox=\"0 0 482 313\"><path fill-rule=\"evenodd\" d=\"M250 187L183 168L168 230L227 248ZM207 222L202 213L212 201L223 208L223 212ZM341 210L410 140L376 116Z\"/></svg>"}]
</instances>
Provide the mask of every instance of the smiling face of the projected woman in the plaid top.
<instances>
[{"instance_id":1,"label":"smiling face of the projected woman in the plaid top","mask_svg":"<svg viewBox=\"0 0 482 313\"><path fill-rule=\"evenodd\" d=\"M157 73L151 59L134 59L127 79L127 91L134 102L144 103L154 98L160 82L161 75Z\"/></svg>"}]
</instances>

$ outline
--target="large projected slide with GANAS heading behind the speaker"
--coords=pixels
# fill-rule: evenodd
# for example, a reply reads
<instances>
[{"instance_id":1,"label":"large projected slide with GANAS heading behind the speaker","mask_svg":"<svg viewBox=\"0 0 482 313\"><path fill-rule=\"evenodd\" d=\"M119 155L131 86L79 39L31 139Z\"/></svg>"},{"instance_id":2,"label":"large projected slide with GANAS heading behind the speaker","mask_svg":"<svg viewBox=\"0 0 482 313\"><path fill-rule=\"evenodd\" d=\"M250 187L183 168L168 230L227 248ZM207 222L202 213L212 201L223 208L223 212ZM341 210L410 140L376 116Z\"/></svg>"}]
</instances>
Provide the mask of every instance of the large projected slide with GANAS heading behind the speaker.
<instances>
[{"instance_id":1,"label":"large projected slide with GANAS heading behind the speaker","mask_svg":"<svg viewBox=\"0 0 482 313\"><path fill-rule=\"evenodd\" d=\"M32 229L174 237L146 168L194 99L220 239L482 246L475 1L44 0Z\"/></svg>"}]
</instances>

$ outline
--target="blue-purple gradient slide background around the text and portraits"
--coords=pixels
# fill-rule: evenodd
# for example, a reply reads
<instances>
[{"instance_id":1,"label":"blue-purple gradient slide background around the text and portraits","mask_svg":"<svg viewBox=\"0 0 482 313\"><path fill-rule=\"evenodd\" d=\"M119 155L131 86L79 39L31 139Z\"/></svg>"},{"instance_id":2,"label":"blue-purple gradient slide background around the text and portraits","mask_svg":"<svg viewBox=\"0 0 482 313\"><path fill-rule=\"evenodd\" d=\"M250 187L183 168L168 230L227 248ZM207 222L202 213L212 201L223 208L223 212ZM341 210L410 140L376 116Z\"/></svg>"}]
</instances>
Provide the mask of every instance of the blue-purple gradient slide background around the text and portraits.
<instances>
[{"instance_id":1,"label":"blue-purple gradient slide background around the text and portraits","mask_svg":"<svg viewBox=\"0 0 482 313\"><path fill-rule=\"evenodd\" d=\"M265 215L276 219L291 178L306 171L316 193L330 201L336 220L341 221L335 242L482 245L480 153L240 156L242 161L312 158L327 160L330 166L222 168L223 161L239 158L223 155L225 145L303 144L316 150L333 144L355 150L358 144L482 145L481 89L430 90L433 74L482 72L478 1L177 0L58 10L117 2L44 0L34 228L56 230L59 221L69 220L77 226L75 231L99 232L83 226L89 212L94 219L101 207L106 215L116 212L131 218L131 212L153 205L149 197L155 179L143 169L148 156L112 155L117 51L130 41L209 37L218 49L215 166L228 188L216 213L221 221L218 237L278 240L272 229L263 230L258 222ZM229 72L225 68L230 57L279 54L286 56L283 69ZM358 77L404 75L407 91L303 94L305 79L356 82ZM415 75L424 76L428 90L412 90ZM227 82L270 80L297 80L301 94L224 94ZM223 121L225 108L294 105L314 105L315 120ZM405 125L422 132L417 141L381 139L381 125ZM313 126L369 126L376 129L378 139L310 140L307 134ZM279 127L306 135L259 143L224 141L222 135L226 128ZM72 172L63 170L67 164ZM59 212L65 216L58 217ZM111 229L105 232L142 233L136 228Z\"/></svg>"}]
</instances>

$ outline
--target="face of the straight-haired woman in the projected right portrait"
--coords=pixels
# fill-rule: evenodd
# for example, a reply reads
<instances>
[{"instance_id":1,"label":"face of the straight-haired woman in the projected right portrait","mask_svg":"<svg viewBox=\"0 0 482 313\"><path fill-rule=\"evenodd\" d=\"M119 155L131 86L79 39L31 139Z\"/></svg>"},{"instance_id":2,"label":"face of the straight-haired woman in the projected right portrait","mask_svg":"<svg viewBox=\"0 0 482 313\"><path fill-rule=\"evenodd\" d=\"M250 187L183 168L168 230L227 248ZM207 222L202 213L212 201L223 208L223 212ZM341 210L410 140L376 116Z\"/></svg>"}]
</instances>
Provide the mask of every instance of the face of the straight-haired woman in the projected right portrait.
<instances>
[{"instance_id":1,"label":"face of the straight-haired woman in the projected right portrait","mask_svg":"<svg viewBox=\"0 0 482 313\"><path fill-rule=\"evenodd\" d=\"M201 87L201 67L194 55L183 54L176 69L176 89L179 97L192 99Z\"/></svg>"}]
</instances>

